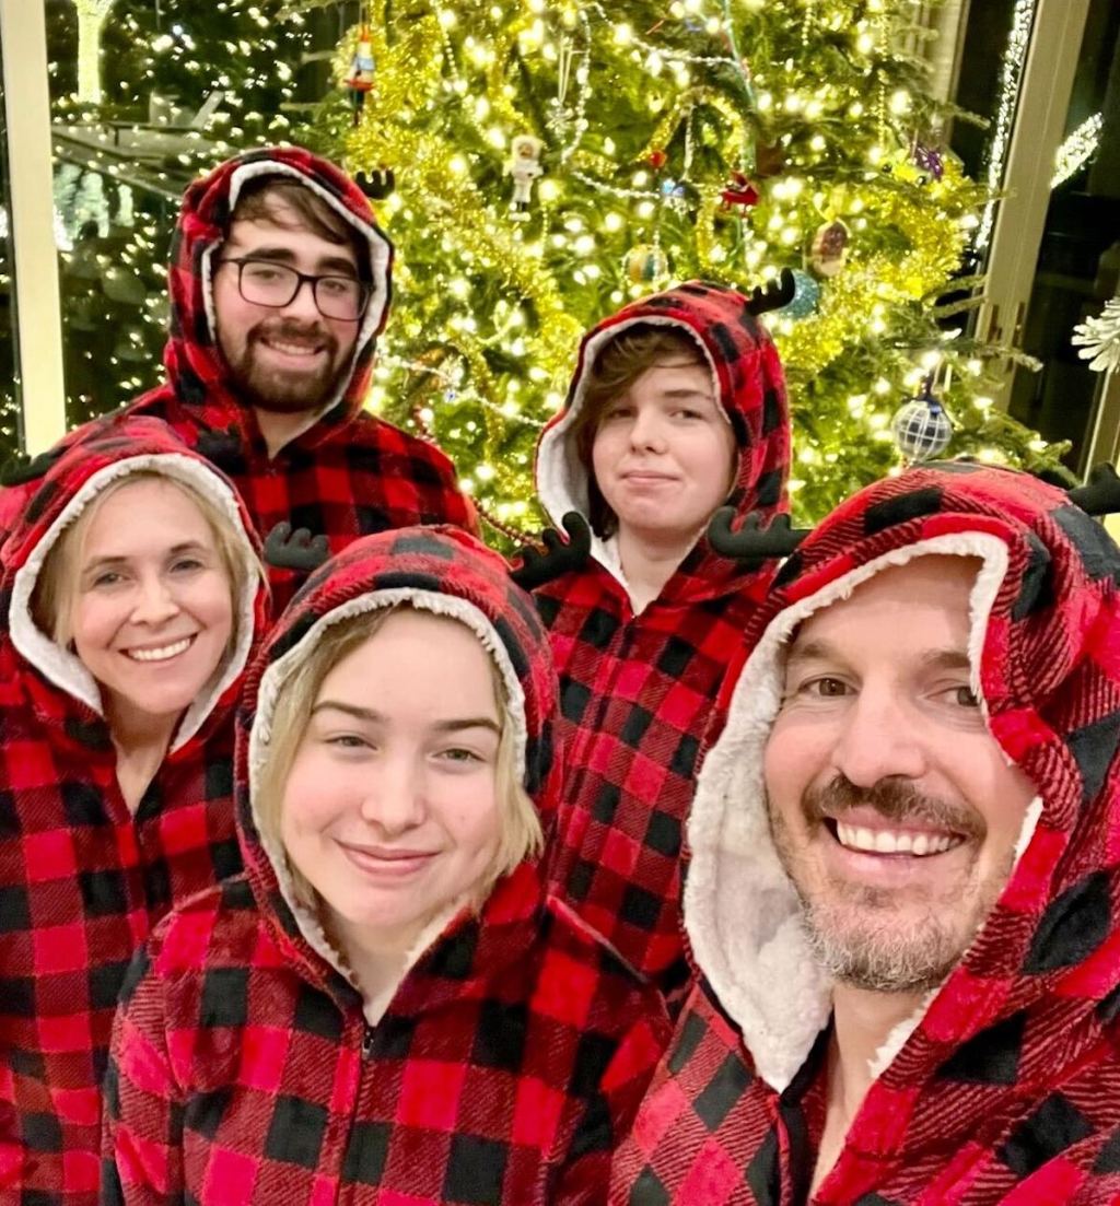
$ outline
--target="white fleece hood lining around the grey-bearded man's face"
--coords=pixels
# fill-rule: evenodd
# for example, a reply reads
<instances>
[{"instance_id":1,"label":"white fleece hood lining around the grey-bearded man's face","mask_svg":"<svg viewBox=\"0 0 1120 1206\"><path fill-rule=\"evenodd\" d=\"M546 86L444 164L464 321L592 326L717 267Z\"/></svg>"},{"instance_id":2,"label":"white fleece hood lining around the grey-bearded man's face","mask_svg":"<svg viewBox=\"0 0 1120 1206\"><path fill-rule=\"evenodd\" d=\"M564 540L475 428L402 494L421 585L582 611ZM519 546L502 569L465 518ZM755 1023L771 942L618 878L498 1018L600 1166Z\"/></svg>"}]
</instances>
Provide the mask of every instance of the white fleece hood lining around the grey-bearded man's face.
<instances>
[{"instance_id":1,"label":"white fleece hood lining around the grey-bearded man's face","mask_svg":"<svg viewBox=\"0 0 1120 1206\"><path fill-rule=\"evenodd\" d=\"M807 616L847 598L873 575L915 557L945 555L984 562L969 599L968 656L979 695L980 656L1007 573L1007 545L981 532L933 537L891 550L775 616L735 684L727 726L698 778L688 820L692 861L684 926L696 965L741 1029L759 1075L777 1091L805 1062L832 1013L832 983L810 953L800 903L778 860L766 813L763 753L781 708L784 646ZM1042 802L1036 801L1023 820L1020 854L1040 813ZM896 1028L874 1075L898 1053L934 995Z\"/></svg>"}]
</instances>

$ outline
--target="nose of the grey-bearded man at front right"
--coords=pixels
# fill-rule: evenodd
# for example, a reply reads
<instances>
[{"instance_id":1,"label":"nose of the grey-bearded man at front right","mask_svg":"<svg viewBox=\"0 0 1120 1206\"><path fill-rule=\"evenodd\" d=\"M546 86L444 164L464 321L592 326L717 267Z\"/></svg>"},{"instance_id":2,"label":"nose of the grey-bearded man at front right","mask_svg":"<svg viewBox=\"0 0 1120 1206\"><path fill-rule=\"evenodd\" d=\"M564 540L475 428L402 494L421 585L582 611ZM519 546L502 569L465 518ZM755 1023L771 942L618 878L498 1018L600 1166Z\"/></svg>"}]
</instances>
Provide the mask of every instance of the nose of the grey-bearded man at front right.
<instances>
[{"instance_id":1,"label":"nose of the grey-bearded man at front right","mask_svg":"<svg viewBox=\"0 0 1120 1206\"><path fill-rule=\"evenodd\" d=\"M863 690L845 709L832 761L857 788L920 779L927 771L921 718L889 692Z\"/></svg>"}]
</instances>

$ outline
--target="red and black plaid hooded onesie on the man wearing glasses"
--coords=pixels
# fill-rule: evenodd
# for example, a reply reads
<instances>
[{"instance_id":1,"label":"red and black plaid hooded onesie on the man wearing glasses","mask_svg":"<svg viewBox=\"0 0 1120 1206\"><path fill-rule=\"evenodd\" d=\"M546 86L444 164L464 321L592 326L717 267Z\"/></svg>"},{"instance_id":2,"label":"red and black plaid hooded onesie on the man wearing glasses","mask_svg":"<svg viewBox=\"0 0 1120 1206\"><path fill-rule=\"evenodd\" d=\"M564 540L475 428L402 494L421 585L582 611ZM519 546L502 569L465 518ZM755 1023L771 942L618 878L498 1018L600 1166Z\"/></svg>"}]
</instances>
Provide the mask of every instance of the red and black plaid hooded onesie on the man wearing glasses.
<instances>
[{"instance_id":1,"label":"red and black plaid hooded onesie on the man wearing glasses","mask_svg":"<svg viewBox=\"0 0 1120 1206\"><path fill-rule=\"evenodd\" d=\"M274 457L268 456L256 416L239 398L217 346L211 288L237 198L246 182L262 175L303 181L364 235L373 282L340 397ZM357 535L412 523L455 523L477 531L474 509L460 492L448 457L434 444L362 409L377 335L389 315L391 263L392 245L369 201L333 164L301 147L256 150L231 159L196 181L183 197L168 276L167 384L130 403L123 414L165 420L210 458L241 492L262 538L285 521L325 534L337 552ZM0 496L0 528L11 528L23 502L19 490ZM290 569L273 568L269 574L273 614L279 614L298 578Z\"/></svg>"}]
</instances>

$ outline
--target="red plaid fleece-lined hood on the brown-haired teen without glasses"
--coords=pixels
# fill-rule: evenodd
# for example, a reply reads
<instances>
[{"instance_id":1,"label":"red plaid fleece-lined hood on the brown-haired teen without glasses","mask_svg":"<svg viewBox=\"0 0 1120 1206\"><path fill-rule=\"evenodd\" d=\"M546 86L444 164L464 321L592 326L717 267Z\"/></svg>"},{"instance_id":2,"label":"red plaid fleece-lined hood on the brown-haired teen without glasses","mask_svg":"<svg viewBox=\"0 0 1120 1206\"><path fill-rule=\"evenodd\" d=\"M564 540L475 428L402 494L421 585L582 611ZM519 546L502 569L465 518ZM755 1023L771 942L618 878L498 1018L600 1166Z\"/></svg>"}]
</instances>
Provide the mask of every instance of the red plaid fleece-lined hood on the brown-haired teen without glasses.
<instances>
[{"instance_id":1,"label":"red plaid fleece-lined hood on the brown-haired teen without glasses","mask_svg":"<svg viewBox=\"0 0 1120 1206\"><path fill-rule=\"evenodd\" d=\"M786 381L770 333L747 309L741 293L706 281L640 298L593 327L579 345L567 400L544 428L537 444L536 480L541 503L553 523L568 511L588 517L588 474L571 435L583 406L588 375L603 346L638 323L671 327L692 339L712 373L714 393L735 433L739 474L727 504L742 517L760 511L769 520L789 509L789 414ZM591 551L611 564L602 541ZM663 598L700 601L734 589L747 573L712 551L701 535L666 584Z\"/></svg>"}]
</instances>

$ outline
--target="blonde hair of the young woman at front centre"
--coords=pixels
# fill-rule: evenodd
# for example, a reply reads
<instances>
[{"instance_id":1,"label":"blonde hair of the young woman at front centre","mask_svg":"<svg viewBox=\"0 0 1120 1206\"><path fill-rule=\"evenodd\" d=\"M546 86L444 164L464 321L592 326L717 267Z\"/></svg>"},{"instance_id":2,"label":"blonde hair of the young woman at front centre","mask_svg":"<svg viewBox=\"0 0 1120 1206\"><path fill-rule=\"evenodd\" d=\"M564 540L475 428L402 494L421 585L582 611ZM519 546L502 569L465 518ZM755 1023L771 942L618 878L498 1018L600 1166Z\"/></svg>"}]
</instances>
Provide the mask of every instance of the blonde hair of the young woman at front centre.
<instances>
[{"instance_id":1,"label":"blonde hair of the young woman at front centre","mask_svg":"<svg viewBox=\"0 0 1120 1206\"><path fill-rule=\"evenodd\" d=\"M280 687L269 724L267 761L261 768L253 790L253 814L257 827L262 838L273 849L284 849L284 842L280 837L280 813L285 788L307 733L311 709L315 707L315 701L319 698L319 692L322 690L327 675L339 662L369 640L390 615L409 607L410 604L402 603L377 608L331 625L310 654ZM421 614L431 614L422 609L418 610ZM461 622L450 616L433 617L453 624ZM473 630L469 631L473 632ZM494 771L501 831L494 863L474 894L476 907L490 895L490 890L502 876L513 871L523 860L539 854L544 842L536 804L525 791L515 766L514 733L513 726L509 724L506 684L502 681L489 651L488 662L494 681L494 695L501 712L501 736ZM313 912L317 912L319 901L315 889L286 857L286 851L285 859L297 898Z\"/></svg>"}]
</instances>

